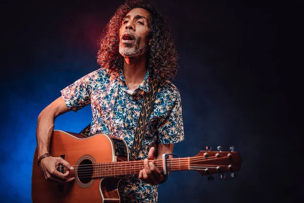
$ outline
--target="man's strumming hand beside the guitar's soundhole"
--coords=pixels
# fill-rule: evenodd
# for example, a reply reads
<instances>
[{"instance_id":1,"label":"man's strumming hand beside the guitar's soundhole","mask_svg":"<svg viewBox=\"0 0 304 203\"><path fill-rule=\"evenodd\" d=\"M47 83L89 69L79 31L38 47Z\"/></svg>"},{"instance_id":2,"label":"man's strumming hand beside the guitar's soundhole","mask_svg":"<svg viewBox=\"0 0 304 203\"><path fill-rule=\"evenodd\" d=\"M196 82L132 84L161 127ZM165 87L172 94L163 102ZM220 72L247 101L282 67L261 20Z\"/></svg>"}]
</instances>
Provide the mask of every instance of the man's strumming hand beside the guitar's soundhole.
<instances>
[{"instance_id":1,"label":"man's strumming hand beside the guitar's soundhole","mask_svg":"<svg viewBox=\"0 0 304 203\"><path fill-rule=\"evenodd\" d=\"M63 165L67 170L64 174L60 173L57 168ZM41 169L45 175L46 180L59 184L68 183L75 180L75 177L67 178L73 166L61 157L46 157L40 162Z\"/></svg>"}]
</instances>

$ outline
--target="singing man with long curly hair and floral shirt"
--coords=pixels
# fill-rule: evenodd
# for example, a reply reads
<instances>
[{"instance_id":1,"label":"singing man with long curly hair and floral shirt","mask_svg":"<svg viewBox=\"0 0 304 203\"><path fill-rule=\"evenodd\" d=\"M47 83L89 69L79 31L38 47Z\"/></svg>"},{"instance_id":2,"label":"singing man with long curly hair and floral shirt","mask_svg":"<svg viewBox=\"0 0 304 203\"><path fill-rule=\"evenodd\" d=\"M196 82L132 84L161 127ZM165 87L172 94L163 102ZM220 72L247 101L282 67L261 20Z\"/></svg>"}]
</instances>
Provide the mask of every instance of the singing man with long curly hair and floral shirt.
<instances>
[{"instance_id":1,"label":"singing man with long curly hair and floral shirt","mask_svg":"<svg viewBox=\"0 0 304 203\"><path fill-rule=\"evenodd\" d=\"M122 202L157 202L158 184L166 177L153 162L172 153L174 143L183 137L180 94L168 81L177 71L177 54L170 29L164 18L143 1L127 1L107 24L97 54L100 69L61 90L61 96L39 115L36 129L38 158L48 153L55 118L68 111L78 111L91 104L89 136L110 134L124 139L131 151L149 78L160 81L160 88L150 115L138 159L145 160L138 175L124 176L119 185ZM56 170L62 164L65 174ZM40 166L47 180L73 181L73 167L59 157L48 156Z\"/></svg>"}]
</instances>

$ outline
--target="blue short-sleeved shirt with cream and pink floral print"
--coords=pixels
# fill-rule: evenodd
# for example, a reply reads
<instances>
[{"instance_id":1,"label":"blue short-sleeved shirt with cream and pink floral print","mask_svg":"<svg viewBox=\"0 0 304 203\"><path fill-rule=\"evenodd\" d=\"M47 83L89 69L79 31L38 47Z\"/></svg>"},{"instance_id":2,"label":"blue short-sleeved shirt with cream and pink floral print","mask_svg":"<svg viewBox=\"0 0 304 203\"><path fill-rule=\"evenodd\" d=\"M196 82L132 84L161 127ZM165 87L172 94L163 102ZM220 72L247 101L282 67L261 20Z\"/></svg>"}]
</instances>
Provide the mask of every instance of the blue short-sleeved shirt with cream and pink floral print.
<instances>
[{"instance_id":1,"label":"blue short-sleeved shirt with cream and pink floral print","mask_svg":"<svg viewBox=\"0 0 304 203\"><path fill-rule=\"evenodd\" d=\"M89 136L105 133L122 138L130 152L143 97L148 91L148 72L140 86L130 91L122 70L114 72L98 69L62 89L61 95L66 106L74 112L91 104L93 117ZM163 81L138 159L148 158L152 146L182 140L184 133L180 93L170 81ZM146 184L138 175L123 176L119 185L122 202L157 202L157 189L157 185Z\"/></svg>"}]
</instances>

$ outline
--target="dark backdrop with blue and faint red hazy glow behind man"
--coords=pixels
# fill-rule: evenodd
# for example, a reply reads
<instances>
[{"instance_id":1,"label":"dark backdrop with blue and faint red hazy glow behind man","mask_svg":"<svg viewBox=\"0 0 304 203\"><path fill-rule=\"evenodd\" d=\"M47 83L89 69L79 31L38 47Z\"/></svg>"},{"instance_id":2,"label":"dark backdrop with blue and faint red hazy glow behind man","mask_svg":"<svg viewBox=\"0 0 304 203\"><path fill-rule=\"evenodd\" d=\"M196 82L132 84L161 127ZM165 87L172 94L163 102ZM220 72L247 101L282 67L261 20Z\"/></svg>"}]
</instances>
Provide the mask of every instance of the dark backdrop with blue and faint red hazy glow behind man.
<instances>
[{"instance_id":1,"label":"dark backdrop with blue and faint red hazy glow behind man","mask_svg":"<svg viewBox=\"0 0 304 203\"><path fill-rule=\"evenodd\" d=\"M2 202L31 201L37 116L60 90L96 70L97 39L123 1L3 3ZM159 202L298 202L303 199L302 1L153 1L179 53L185 140L180 157L235 146L238 177L173 172ZM79 132L90 107L56 119ZM35 163L34 163L35 164Z\"/></svg>"}]
</instances>

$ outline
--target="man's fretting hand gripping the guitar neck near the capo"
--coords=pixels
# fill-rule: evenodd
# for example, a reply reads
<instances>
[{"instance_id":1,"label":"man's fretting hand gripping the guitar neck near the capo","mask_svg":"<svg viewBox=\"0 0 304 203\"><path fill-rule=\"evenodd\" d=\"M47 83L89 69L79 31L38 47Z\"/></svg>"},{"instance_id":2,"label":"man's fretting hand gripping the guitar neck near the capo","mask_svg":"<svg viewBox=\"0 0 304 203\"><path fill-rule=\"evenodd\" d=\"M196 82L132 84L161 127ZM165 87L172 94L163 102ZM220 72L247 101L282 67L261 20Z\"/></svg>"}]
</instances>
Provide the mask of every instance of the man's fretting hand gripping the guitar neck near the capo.
<instances>
[{"instance_id":1,"label":"man's fretting hand gripping the guitar neck near the capo","mask_svg":"<svg viewBox=\"0 0 304 203\"><path fill-rule=\"evenodd\" d=\"M148 153L149 160L155 160L154 155L155 147L151 147ZM155 166L154 161L149 161L144 159L144 168L140 170L138 178L143 180L145 183L151 185L157 185L165 180L165 176L161 171Z\"/></svg>"}]
</instances>

